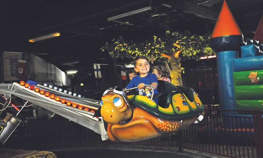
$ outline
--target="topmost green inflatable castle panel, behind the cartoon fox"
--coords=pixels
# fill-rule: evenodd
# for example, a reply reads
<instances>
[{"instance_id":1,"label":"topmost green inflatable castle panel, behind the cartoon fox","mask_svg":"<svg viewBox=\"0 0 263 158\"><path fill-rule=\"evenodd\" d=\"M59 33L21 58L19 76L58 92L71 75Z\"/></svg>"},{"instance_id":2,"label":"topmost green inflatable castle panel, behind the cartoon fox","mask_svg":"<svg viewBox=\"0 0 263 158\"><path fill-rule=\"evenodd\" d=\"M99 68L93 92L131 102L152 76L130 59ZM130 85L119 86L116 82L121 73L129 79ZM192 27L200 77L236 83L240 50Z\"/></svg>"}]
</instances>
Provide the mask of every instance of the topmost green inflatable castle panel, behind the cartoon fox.
<instances>
[{"instance_id":1,"label":"topmost green inflatable castle panel, behind the cartoon fox","mask_svg":"<svg viewBox=\"0 0 263 158\"><path fill-rule=\"evenodd\" d=\"M257 77L259 77L258 84L263 84L263 70L253 70L254 72L257 71ZM252 71L239 71L239 72L234 72L233 73L233 80L234 80L234 85L235 86L249 86L251 85L251 80L248 78L248 75Z\"/></svg>"}]
</instances>

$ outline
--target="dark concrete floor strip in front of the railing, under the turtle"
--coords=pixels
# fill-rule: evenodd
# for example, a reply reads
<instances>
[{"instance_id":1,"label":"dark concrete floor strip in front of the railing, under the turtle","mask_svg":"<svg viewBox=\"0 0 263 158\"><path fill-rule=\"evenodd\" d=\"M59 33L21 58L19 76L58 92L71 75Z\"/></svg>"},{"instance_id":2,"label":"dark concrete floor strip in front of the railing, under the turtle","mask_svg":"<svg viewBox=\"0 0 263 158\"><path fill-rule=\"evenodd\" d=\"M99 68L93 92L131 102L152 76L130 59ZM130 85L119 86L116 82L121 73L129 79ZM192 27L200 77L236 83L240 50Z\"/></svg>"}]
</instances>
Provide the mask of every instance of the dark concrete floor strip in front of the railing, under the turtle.
<instances>
[{"instance_id":1,"label":"dark concrete floor strip in front of the railing, under the turtle","mask_svg":"<svg viewBox=\"0 0 263 158\"><path fill-rule=\"evenodd\" d=\"M57 149L50 148L48 151L55 153L58 158L226 158L226 156L219 156L197 150L183 149L183 151L179 152L177 147L134 144L107 144L106 146L85 145L75 147L67 146Z\"/></svg>"}]
</instances>

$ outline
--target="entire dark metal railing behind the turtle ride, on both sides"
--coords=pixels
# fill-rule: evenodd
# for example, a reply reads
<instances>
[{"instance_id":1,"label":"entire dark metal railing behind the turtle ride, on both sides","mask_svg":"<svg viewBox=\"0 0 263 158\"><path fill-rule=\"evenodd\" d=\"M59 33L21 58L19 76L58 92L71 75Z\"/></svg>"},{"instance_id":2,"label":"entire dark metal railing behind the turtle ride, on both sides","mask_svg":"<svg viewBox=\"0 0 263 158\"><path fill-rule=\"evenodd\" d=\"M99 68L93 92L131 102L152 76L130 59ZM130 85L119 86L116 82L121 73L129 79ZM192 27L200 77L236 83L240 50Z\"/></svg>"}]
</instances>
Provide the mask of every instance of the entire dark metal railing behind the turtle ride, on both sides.
<instances>
[{"instance_id":1,"label":"entire dark metal railing behind the turtle ride, on both sides","mask_svg":"<svg viewBox=\"0 0 263 158\"><path fill-rule=\"evenodd\" d=\"M190 148L228 157L262 157L263 111L241 111L251 115L231 116L221 115L223 111L237 112L205 109L205 118L198 124L164 137L128 144ZM101 141L99 134L64 118L28 120L19 126L7 146L36 150L36 147L113 143Z\"/></svg>"}]
</instances>

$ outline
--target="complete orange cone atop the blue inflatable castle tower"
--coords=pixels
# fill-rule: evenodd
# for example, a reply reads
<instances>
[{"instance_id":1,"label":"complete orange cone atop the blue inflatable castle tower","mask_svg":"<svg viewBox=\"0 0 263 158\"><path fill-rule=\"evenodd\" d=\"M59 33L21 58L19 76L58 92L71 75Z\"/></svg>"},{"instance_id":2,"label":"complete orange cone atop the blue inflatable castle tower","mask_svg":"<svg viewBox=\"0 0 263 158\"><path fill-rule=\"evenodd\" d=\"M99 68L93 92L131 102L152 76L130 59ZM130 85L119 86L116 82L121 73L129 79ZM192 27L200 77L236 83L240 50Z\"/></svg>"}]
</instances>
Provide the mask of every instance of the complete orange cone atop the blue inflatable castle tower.
<instances>
[{"instance_id":1,"label":"complete orange cone atop the blue inflatable castle tower","mask_svg":"<svg viewBox=\"0 0 263 158\"><path fill-rule=\"evenodd\" d=\"M242 32L224 0L211 38L228 35L242 35Z\"/></svg>"}]
</instances>

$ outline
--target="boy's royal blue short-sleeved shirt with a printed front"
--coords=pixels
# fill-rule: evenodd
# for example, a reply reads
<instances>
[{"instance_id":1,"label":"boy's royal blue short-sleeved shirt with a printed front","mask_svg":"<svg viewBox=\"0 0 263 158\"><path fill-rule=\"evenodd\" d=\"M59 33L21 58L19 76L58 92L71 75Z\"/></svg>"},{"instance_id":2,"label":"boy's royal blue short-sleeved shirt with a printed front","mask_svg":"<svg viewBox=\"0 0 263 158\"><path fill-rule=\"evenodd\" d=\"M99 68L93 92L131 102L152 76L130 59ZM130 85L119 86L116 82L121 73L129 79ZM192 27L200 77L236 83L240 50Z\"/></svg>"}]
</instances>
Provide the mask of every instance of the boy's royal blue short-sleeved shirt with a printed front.
<instances>
[{"instance_id":1,"label":"boy's royal blue short-sleeved shirt with a printed front","mask_svg":"<svg viewBox=\"0 0 263 158\"><path fill-rule=\"evenodd\" d=\"M130 81L130 83L127 85L126 89L137 87L138 84L140 84L140 83L152 84L154 82L158 84L158 80L157 80L156 74L148 73L147 76L145 76L145 77L140 77L140 75L138 75L138 76L135 76L135 77L132 78L132 81ZM149 90L147 88L143 88L143 89L140 89L140 90L136 89L136 93L139 94L139 95L148 96L148 98L150 98L151 94L152 94L151 90L150 90L150 93L149 93ZM156 88L154 90L154 94L158 94L158 93L159 92L158 92L158 90ZM154 102L156 104L158 104L158 98L155 98Z\"/></svg>"}]
</instances>

